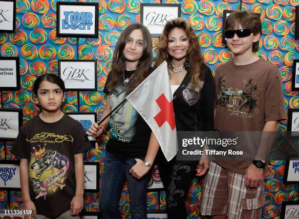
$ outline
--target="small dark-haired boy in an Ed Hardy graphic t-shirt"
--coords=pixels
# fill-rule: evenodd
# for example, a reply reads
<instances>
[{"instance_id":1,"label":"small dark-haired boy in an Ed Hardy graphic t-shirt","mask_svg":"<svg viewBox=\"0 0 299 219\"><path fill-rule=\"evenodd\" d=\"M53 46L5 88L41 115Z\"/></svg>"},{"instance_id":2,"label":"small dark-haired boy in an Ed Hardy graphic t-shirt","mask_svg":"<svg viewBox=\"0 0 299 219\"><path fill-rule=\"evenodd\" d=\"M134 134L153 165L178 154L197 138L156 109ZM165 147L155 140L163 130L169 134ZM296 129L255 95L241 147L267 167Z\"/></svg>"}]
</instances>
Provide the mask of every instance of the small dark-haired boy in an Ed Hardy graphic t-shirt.
<instances>
[{"instance_id":1,"label":"small dark-haired boy in an Ed Hardy graphic t-shirt","mask_svg":"<svg viewBox=\"0 0 299 219\"><path fill-rule=\"evenodd\" d=\"M53 74L35 81L42 112L22 125L11 151L21 159L23 208L38 219L79 218L83 209L83 152L91 144L80 123L60 110L64 90Z\"/></svg>"}]
</instances>

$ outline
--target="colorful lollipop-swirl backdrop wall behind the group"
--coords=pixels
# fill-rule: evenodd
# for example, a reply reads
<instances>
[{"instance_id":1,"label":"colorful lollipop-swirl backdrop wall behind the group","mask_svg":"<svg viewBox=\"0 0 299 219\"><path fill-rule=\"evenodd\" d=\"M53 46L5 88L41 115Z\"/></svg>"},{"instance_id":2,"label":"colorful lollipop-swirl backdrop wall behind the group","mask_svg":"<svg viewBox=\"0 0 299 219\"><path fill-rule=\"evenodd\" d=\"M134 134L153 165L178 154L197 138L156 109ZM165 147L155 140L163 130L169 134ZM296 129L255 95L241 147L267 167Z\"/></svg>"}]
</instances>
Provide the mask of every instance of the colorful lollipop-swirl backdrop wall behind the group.
<instances>
[{"instance_id":1,"label":"colorful lollipop-swirl backdrop wall behind the group","mask_svg":"<svg viewBox=\"0 0 299 219\"><path fill-rule=\"evenodd\" d=\"M76 0L65 0L76 1ZM85 1L85 0L79 0ZM251 10L259 13L263 35L258 56L277 65L283 82L286 110L298 108L298 92L291 91L292 63L299 59L299 40L294 40L295 6L298 0L90 0L99 2L99 37L60 38L56 36L57 0L17 0L16 32L0 33L0 55L20 57L21 90L2 91L2 107L22 108L26 122L39 112L35 105L32 85L44 74L58 74L58 59L98 60L98 91L67 92L62 106L64 112L96 112L101 117L106 106L103 88L111 66L113 50L121 32L131 23L140 21L140 3L180 3L182 17L189 20L194 28L205 62L215 71L216 67L233 58L231 52L221 43L223 10ZM153 47L157 38L152 38ZM78 51L77 51L78 48ZM156 55L155 55L156 56ZM280 131L286 130L287 123L280 124ZM99 150L85 152L85 161L100 163L100 180L103 172L105 145L108 137L103 136ZM17 159L10 153L12 142L0 142L0 159ZM5 150L6 149L6 150ZM278 219L282 201L298 200L298 185L284 185L283 161L269 163L265 175L265 200L263 219ZM154 171L153 176L158 173ZM152 179L152 178L151 178ZM194 179L190 187L186 206L190 219L200 219L200 180ZM21 193L0 191L0 208L22 206ZM86 211L99 210L99 193L85 193ZM149 210L165 210L166 196L163 191L149 191ZM123 218L130 218L127 184L124 185L120 210ZM203 217L202 217L203 218Z\"/></svg>"}]
</instances>

